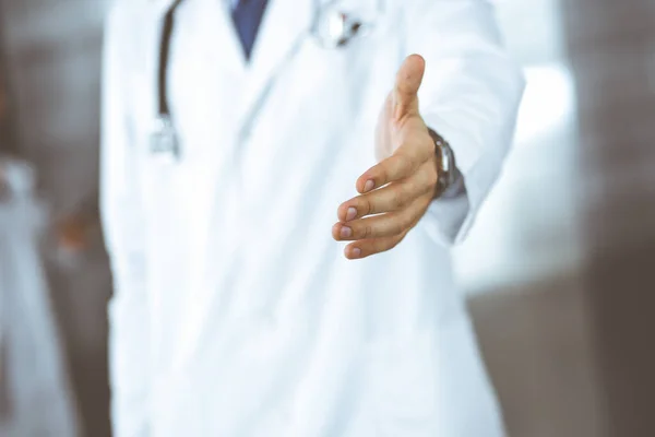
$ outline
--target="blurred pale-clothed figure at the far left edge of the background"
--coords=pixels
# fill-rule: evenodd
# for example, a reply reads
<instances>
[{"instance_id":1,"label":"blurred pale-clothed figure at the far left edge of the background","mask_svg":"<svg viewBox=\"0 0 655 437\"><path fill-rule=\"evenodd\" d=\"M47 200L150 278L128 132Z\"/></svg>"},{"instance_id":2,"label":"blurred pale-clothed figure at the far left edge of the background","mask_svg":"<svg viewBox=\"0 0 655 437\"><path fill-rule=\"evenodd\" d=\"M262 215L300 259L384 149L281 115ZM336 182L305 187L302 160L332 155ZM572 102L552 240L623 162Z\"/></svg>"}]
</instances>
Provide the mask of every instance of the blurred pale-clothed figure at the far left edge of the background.
<instances>
[{"instance_id":1,"label":"blurred pale-clothed figure at the far left edge of the background","mask_svg":"<svg viewBox=\"0 0 655 437\"><path fill-rule=\"evenodd\" d=\"M0 128L5 127L5 96L0 86ZM75 403L38 251L43 211L34 196L35 175L28 164L3 153L3 138L0 135L0 436L75 437Z\"/></svg>"}]
</instances>

